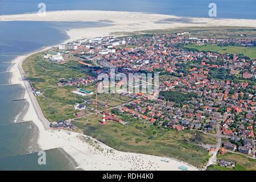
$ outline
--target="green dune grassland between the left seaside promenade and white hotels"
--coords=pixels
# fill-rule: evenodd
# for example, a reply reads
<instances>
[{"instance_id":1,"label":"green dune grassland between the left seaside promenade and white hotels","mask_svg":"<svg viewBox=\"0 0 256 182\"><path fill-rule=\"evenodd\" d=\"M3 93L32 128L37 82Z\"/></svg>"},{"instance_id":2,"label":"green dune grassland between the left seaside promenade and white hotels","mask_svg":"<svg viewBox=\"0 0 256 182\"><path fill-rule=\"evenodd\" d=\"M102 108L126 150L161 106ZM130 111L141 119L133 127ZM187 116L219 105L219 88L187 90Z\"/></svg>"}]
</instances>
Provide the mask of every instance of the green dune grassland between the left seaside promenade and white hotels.
<instances>
[{"instance_id":1,"label":"green dune grassland between the left seaside promenade and white hotels","mask_svg":"<svg viewBox=\"0 0 256 182\"><path fill-rule=\"evenodd\" d=\"M44 116L54 122L59 119L74 118L77 111L74 109L76 102L82 102L82 98L71 92L76 90L73 86L57 87L60 78L84 77L84 69L76 61L67 64L57 64L42 59L43 53L28 57L22 67L35 88L41 90L42 96L36 97ZM92 90L88 86L86 88Z\"/></svg>"}]
</instances>

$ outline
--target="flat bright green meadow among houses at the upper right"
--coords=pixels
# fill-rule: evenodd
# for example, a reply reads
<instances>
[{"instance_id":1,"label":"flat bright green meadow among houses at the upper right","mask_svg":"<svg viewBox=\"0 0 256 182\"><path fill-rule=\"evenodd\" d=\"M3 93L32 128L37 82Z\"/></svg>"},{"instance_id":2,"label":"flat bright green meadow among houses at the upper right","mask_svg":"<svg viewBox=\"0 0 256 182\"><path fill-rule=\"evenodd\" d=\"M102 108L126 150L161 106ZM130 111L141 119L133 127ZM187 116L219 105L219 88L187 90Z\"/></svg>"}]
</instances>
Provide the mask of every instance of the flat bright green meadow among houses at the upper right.
<instances>
[{"instance_id":1,"label":"flat bright green meadow among houses at the upper right","mask_svg":"<svg viewBox=\"0 0 256 182\"><path fill-rule=\"evenodd\" d=\"M256 59L256 47L238 47L238 46L226 46L220 47L217 45L188 45L187 48L196 48L199 51L215 51L218 53L242 53L245 56L250 57L250 59Z\"/></svg>"}]
</instances>

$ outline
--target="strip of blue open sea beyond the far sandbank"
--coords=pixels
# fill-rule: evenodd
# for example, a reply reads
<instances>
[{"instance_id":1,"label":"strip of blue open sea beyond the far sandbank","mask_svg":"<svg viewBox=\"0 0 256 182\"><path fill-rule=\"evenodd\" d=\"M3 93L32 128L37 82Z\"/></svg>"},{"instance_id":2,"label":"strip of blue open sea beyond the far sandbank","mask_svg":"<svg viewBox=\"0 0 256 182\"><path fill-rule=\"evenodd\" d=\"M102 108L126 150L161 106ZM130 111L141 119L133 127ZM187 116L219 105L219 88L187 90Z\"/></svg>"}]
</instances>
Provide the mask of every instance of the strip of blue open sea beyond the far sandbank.
<instances>
[{"instance_id":1,"label":"strip of blue open sea beyond the far sandbank","mask_svg":"<svg viewBox=\"0 0 256 182\"><path fill-rule=\"evenodd\" d=\"M0 14L36 12L41 2L47 11L133 11L204 18L208 17L209 3L216 3L217 18L256 19L255 0L1 0Z\"/></svg>"}]
</instances>

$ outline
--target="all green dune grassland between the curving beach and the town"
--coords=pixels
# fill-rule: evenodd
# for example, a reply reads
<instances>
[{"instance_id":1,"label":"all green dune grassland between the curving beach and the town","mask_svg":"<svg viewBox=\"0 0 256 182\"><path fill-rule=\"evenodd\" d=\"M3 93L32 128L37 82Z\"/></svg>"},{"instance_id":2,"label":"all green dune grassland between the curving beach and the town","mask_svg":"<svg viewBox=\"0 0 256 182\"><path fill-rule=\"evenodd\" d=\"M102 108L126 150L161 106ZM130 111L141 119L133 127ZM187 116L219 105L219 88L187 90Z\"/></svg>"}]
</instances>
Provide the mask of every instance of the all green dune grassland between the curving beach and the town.
<instances>
[{"instance_id":1,"label":"all green dune grassland between the curving beach and the town","mask_svg":"<svg viewBox=\"0 0 256 182\"><path fill-rule=\"evenodd\" d=\"M73 109L76 102L82 102L84 97L72 94L76 90L73 86L56 87L60 78L86 76L82 72L84 68L76 61L67 64L51 63L42 60L42 53L28 57L23 63L23 69L35 88L42 91L42 96L36 97L45 117L53 122L58 119L75 118L77 111ZM94 91L93 86L86 88ZM88 99L94 100L94 96ZM131 99L115 94L99 94L98 101L108 104L110 107L129 102ZM99 108L104 109L104 108ZM89 111L86 111L89 113ZM158 128L149 123L143 123L139 119L129 117L122 118L129 121L129 125L108 122L101 125L98 118L88 115L76 119L73 123L84 134L101 140L110 147L127 152L139 152L159 156L170 156L191 163L196 167L202 167L209 159L207 150L200 147L200 143L215 144L216 139L196 131L167 130ZM196 132L196 135L195 135Z\"/></svg>"}]
</instances>

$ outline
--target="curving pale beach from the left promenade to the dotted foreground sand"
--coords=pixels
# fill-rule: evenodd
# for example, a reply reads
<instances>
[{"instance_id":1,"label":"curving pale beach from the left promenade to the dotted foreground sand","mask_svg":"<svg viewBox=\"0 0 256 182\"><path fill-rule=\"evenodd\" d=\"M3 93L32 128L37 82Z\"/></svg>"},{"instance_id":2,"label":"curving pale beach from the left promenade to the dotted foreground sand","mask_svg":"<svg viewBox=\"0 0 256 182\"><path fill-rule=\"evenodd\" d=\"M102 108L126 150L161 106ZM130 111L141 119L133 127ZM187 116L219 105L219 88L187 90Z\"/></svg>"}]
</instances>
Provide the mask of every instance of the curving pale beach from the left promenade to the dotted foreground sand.
<instances>
[{"instance_id":1,"label":"curving pale beach from the left promenade to the dotted foreground sand","mask_svg":"<svg viewBox=\"0 0 256 182\"><path fill-rule=\"evenodd\" d=\"M70 39L69 39L70 40ZM67 40L65 41L67 42ZM189 170L200 170L193 167L191 164L181 162L177 159L170 159L170 163L161 162L160 156L152 156L145 154L137 154L131 152L121 152L106 146L106 144L93 139L92 137L84 134L74 133L67 130L52 130L49 129L49 122L42 113L40 106L32 93L32 89L27 81L23 80L23 68L22 62L29 56L36 53L47 51L54 46L42 48L32 53L27 53L24 56L18 56L13 60L10 72L12 77L10 84L21 84L24 88L23 98L27 98L28 108L23 115L24 121L32 121L38 129L38 147L41 150L51 150L58 148L65 152L65 157L72 160L71 163L76 166L76 169L84 170L178 170L177 167L185 165ZM88 138L90 142L84 142L78 137ZM98 151L95 146L91 146L91 143L98 143L97 147L100 147L104 152ZM113 155L109 154L109 151L114 151ZM63 154L63 151L61 153ZM111 158L111 159L110 159ZM130 159L138 160L136 164L132 163ZM127 161L123 161L127 160ZM101 161L105 162L101 163ZM122 162L121 162L122 161ZM96 163L95 163L96 162ZM121 162L121 163L120 163ZM134 161L133 161L134 162ZM143 167L139 166L144 162ZM147 162L147 163L146 163ZM75 163L75 164L74 164ZM171 164L172 163L172 164ZM105 165L104 165L105 164ZM114 164L110 167L110 165ZM151 164L154 168L147 169L147 164ZM137 166L137 167L134 167Z\"/></svg>"}]
</instances>

